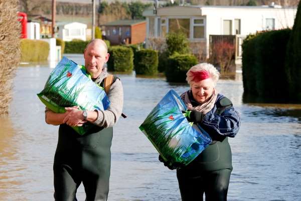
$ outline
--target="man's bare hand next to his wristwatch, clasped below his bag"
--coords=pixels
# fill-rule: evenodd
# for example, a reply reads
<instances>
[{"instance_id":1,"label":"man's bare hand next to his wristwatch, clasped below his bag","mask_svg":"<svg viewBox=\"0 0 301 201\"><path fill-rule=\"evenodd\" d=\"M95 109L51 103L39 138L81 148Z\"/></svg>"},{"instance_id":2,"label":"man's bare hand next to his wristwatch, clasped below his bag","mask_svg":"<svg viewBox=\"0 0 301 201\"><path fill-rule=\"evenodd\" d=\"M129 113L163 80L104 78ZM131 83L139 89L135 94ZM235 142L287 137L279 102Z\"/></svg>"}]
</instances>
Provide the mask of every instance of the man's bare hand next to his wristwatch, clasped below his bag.
<instances>
[{"instance_id":1,"label":"man's bare hand next to his wristwatch, clasped below his bag","mask_svg":"<svg viewBox=\"0 0 301 201\"><path fill-rule=\"evenodd\" d=\"M63 120L63 124L69 126L82 126L87 121L84 120L83 111L78 110L77 107L65 108L66 116Z\"/></svg>"}]
</instances>

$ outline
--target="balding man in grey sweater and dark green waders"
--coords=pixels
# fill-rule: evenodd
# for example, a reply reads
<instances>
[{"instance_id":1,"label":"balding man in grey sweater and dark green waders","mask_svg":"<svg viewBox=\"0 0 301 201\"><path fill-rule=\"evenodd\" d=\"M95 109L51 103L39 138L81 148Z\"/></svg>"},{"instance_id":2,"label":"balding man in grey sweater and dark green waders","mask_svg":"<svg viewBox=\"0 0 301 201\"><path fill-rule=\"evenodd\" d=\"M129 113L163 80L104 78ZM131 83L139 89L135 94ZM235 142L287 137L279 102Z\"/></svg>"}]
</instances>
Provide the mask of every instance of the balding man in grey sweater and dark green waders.
<instances>
[{"instance_id":1,"label":"balding man in grey sweater and dark green waders","mask_svg":"<svg viewBox=\"0 0 301 201\"><path fill-rule=\"evenodd\" d=\"M84 59L92 80L103 86L104 78L108 76L104 64L109 59L105 42L92 40L84 51ZM87 201L107 200L112 126L119 119L123 106L122 84L117 77L107 95L110 106L105 111L81 111L70 107L65 113L58 114L46 109L46 123L60 125L53 165L55 200L76 200L76 190L81 182ZM83 136L71 128L86 122L97 126Z\"/></svg>"}]
</instances>

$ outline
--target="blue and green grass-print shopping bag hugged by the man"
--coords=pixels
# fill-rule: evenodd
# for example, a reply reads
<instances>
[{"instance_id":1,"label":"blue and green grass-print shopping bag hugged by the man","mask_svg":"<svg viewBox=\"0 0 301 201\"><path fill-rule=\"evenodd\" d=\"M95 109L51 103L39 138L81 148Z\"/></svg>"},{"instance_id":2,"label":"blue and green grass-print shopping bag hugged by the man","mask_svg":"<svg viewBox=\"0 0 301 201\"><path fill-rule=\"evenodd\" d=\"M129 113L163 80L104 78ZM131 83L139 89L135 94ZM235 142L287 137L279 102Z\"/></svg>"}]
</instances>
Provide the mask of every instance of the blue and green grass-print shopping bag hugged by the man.
<instances>
[{"instance_id":1,"label":"blue and green grass-print shopping bag hugged by the man","mask_svg":"<svg viewBox=\"0 0 301 201\"><path fill-rule=\"evenodd\" d=\"M51 72L45 88L37 94L43 104L55 113L64 113L65 107L79 106L80 110L106 110L109 99L102 89L91 80L84 66L79 66L66 57ZM84 135L95 125L86 123L72 127Z\"/></svg>"}]
</instances>

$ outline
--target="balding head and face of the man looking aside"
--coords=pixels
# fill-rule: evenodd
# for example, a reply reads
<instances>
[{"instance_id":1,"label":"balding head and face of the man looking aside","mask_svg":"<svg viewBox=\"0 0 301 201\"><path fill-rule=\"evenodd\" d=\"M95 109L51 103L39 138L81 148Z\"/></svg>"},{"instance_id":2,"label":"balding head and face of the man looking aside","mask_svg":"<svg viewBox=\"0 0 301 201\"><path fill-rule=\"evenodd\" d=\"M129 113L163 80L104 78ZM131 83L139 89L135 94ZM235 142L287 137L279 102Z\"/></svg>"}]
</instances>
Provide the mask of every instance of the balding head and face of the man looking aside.
<instances>
[{"instance_id":1,"label":"balding head and face of the man looking aside","mask_svg":"<svg viewBox=\"0 0 301 201\"><path fill-rule=\"evenodd\" d=\"M92 78L100 75L104 63L109 59L109 54L100 42L91 43L84 52L85 67Z\"/></svg>"}]
</instances>

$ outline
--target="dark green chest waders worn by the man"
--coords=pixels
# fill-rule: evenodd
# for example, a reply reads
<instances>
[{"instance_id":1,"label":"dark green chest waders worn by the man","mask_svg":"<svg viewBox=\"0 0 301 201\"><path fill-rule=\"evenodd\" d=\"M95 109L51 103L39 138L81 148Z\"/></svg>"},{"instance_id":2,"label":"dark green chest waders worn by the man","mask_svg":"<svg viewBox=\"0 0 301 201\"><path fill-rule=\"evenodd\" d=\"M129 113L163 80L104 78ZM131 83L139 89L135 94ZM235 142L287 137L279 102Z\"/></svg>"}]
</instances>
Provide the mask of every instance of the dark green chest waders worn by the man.
<instances>
[{"instance_id":1,"label":"dark green chest waders worn by the man","mask_svg":"<svg viewBox=\"0 0 301 201\"><path fill-rule=\"evenodd\" d=\"M66 124L60 125L54 158L56 200L73 200L83 182L86 200L106 200L109 191L113 128L95 126L80 136Z\"/></svg>"}]
</instances>

